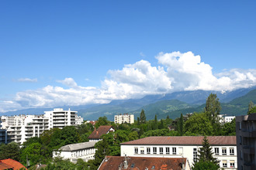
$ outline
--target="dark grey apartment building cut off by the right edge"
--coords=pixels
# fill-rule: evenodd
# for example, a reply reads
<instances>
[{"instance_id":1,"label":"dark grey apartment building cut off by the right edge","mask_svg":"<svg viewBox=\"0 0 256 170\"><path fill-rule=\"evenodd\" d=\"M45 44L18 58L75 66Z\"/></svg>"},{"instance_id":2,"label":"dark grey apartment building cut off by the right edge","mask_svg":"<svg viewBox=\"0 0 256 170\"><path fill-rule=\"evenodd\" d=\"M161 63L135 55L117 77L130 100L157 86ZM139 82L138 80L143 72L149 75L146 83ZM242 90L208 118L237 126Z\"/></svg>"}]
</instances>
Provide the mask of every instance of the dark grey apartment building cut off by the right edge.
<instances>
[{"instance_id":1,"label":"dark grey apartment building cut off by the right edge","mask_svg":"<svg viewBox=\"0 0 256 170\"><path fill-rule=\"evenodd\" d=\"M238 169L256 169L256 113L236 117Z\"/></svg>"}]
</instances>

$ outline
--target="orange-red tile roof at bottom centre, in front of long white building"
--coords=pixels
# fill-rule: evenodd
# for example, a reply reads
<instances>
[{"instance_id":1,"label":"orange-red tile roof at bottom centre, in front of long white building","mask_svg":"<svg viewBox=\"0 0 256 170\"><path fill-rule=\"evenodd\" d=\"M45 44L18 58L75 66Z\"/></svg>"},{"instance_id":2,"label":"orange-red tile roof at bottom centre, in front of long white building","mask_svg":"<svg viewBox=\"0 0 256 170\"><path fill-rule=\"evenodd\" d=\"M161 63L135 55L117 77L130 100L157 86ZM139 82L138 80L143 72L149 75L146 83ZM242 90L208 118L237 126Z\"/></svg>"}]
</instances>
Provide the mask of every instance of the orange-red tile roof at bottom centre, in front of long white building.
<instances>
[{"instance_id":1,"label":"orange-red tile roof at bottom centre, in front of long white building","mask_svg":"<svg viewBox=\"0 0 256 170\"><path fill-rule=\"evenodd\" d=\"M124 161L127 161L127 168L124 168ZM100 165L99 170L111 169L177 169L182 170L182 165L186 165L186 158L152 158L152 157L121 157L106 156ZM185 167L184 167L185 168Z\"/></svg>"}]
</instances>

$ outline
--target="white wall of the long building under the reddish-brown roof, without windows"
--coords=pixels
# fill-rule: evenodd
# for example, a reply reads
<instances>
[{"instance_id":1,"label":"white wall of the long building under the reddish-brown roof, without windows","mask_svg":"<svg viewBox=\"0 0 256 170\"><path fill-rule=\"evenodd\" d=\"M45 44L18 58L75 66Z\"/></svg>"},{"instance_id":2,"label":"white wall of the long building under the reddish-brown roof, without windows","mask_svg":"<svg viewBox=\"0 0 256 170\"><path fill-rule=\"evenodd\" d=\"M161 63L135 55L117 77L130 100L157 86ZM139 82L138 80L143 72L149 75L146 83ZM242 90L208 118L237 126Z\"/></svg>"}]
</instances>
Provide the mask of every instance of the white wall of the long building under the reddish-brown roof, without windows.
<instances>
[{"instance_id":1,"label":"white wall of the long building under the reddish-brown roof, without windows","mask_svg":"<svg viewBox=\"0 0 256 170\"><path fill-rule=\"evenodd\" d=\"M199 148L202 146L195 145L121 145L121 156L134 156L134 157L161 157L161 158L187 158L189 165L193 165L194 154L193 149L196 148L197 155L199 155ZM138 150L135 153L136 148ZM150 154L147 153L147 148L150 148ZM154 148L157 148L157 152L154 153ZM160 148L163 148L161 153ZM166 148L169 149L169 154L166 152ZM174 148L174 149L173 149ZM214 153L215 148L219 148L219 155ZM226 148L227 154L223 154L222 148ZM230 155L230 148L234 148L234 155ZM144 154L143 154L144 150ZM176 152L174 153L173 151ZM141 152L142 151L142 152ZM232 168L230 162L234 161L234 166L237 168L237 146L214 146L213 156L220 161L220 168ZM227 161L227 167L223 167L223 162Z\"/></svg>"}]
</instances>

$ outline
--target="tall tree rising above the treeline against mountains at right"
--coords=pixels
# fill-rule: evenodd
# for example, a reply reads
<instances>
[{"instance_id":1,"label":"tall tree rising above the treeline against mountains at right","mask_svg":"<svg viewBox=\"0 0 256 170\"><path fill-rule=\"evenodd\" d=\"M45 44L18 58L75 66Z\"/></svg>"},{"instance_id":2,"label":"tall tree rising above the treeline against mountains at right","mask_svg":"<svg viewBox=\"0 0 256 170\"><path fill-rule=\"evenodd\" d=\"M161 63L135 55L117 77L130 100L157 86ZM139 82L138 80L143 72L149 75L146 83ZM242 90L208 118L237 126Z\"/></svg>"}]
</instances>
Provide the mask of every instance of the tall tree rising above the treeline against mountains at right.
<instances>
[{"instance_id":1,"label":"tall tree rising above the treeline against mountains at right","mask_svg":"<svg viewBox=\"0 0 256 170\"><path fill-rule=\"evenodd\" d=\"M209 118L209 120L212 122L212 124L215 124L218 122L218 115L220 114L220 101L219 98L217 98L216 94L210 93L209 97L206 100L206 114Z\"/></svg>"}]
</instances>

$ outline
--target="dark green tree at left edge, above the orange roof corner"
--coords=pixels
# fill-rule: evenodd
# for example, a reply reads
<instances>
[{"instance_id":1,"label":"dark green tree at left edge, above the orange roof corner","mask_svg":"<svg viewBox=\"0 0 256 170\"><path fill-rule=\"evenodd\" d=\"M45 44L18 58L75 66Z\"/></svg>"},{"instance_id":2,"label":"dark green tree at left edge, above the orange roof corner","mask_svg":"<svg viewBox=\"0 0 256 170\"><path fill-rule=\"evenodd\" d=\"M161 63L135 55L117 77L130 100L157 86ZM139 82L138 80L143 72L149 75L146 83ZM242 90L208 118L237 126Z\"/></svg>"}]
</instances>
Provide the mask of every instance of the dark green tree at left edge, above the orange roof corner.
<instances>
[{"instance_id":1,"label":"dark green tree at left edge, above the orange roof corner","mask_svg":"<svg viewBox=\"0 0 256 170\"><path fill-rule=\"evenodd\" d=\"M0 159L11 158L19 162L19 152L20 148L16 142L11 142L7 145L0 145Z\"/></svg>"}]
</instances>

